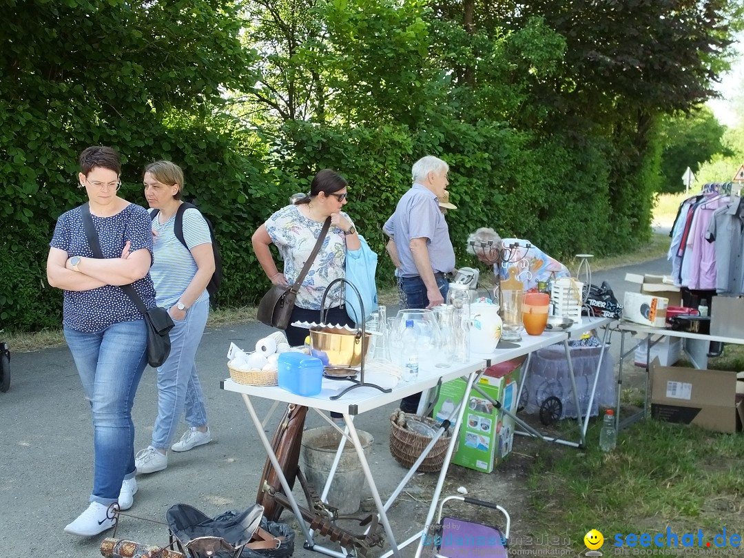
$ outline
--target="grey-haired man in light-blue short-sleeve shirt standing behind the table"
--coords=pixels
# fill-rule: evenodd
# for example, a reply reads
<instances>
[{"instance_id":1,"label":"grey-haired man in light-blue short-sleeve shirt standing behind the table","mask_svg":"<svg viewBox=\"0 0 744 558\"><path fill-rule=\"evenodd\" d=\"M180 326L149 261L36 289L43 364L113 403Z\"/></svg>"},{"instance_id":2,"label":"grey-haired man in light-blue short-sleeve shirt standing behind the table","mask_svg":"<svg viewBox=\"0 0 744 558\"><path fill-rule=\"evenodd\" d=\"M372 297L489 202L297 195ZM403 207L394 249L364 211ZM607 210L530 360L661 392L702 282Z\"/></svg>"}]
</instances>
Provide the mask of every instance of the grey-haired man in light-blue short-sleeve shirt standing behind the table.
<instances>
[{"instance_id":1,"label":"grey-haired man in light-blue short-sleeve shirt standing behind the table","mask_svg":"<svg viewBox=\"0 0 744 558\"><path fill-rule=\"evenodd\" d=\"M439 208L449 185L447 173L449 165L440 158L427 155L416 161L411 168L414 184L382 228L395 240L402 309L432 308L443 304L447 295L444 275L455 269L455 250ZM415 413L420 396L406 397L400 408Z\"/></svg>"}]
</instances>

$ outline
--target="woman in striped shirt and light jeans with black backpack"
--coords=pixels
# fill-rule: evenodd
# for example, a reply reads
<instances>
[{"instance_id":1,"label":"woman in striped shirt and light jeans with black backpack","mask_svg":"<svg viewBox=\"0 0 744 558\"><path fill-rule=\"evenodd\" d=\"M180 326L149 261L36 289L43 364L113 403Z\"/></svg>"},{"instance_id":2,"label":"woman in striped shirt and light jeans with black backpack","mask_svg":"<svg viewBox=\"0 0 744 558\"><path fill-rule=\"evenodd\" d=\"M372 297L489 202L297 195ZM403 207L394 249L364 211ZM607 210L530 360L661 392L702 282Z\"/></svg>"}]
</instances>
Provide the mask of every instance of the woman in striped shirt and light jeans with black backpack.
<instances>
[{"instance_id":1,"label":"woman in striped shirt and light jeans with black backpack","mask_svg":"<svg viewBox=\"0 0 744 558\"><path fill-rule=\"evenodd\" d=\"M189 429L170 449L186 452L212 440L194 359L207 324L207 284L215 263L209 226L198 209L182 211L186 246L176 237L176 214L183 204L181 167L170 161L149 164L142 182L147 203L157 210L152 220L155 261L150 275L158 306L169 309L176 324L170 330L170 355L158 368L158 417L153 439L137 454L137 472L144 474L168 466L168 446L182 414Z\"/></svg>"}]
</instances>

